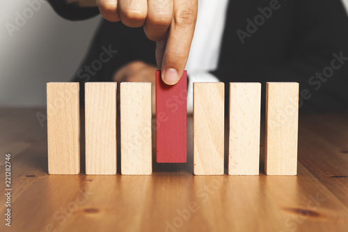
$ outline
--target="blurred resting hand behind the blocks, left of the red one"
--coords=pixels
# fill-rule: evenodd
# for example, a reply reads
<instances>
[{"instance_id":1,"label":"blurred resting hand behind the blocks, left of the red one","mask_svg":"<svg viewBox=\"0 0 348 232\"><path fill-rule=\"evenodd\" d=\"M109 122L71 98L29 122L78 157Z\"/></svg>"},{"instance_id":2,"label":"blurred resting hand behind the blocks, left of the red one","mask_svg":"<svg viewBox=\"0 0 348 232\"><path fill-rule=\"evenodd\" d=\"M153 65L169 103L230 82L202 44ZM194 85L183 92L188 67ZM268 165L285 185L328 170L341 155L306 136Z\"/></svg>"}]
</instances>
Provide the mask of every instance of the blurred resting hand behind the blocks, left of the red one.
<instances>
[{"instance_id":1,"label":"blurred resting hand behind the blocks, left of the red one","mask_svg":"<svg viewBox=\"0 0 348 232\"><path fill-rule=\"evenodd\" d=\"M152 83L152 114L156 112L156 79L157 68L153 65L144 63L143 61L133 61L120 68L115 75L113 75L113 82L118 83L120 89L120 82L151 82ZM120 91L117 91L117 101L120 102Z\"/></svg>"}]
</instances>

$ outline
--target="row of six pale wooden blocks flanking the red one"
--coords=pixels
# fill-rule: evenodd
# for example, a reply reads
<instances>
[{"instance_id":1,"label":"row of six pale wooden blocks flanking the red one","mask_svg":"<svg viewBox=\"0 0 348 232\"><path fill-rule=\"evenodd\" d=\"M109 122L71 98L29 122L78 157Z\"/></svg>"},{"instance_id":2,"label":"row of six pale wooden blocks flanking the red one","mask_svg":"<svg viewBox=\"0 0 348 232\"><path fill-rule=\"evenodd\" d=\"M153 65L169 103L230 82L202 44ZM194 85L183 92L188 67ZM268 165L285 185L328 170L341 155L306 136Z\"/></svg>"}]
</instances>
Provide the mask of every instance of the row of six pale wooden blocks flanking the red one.
<instances>
[{"instance_id":1,"label":"row of six pale wooden blocks flanking the red one","mask_svg":"<svg viewBox=\"0 0 348 232\"><path fill-rule=\"evenodd\" d=\"M116 174L116 91L115 82L85 84L86 174ZM224 173L224 98L223 83L193 84L195 175ZM298 101L298 83L267 83L264 162L267 175L296 175ZM260 102L260 83L230 83L230 175L259 174ZM79 120L79 84L47 83L49 174L79 173ZM150 175L151 83L120 84L120 122L121 174ZM158 124L157 127L157 131L161 130Z\"/></svg>"}]
</instances>

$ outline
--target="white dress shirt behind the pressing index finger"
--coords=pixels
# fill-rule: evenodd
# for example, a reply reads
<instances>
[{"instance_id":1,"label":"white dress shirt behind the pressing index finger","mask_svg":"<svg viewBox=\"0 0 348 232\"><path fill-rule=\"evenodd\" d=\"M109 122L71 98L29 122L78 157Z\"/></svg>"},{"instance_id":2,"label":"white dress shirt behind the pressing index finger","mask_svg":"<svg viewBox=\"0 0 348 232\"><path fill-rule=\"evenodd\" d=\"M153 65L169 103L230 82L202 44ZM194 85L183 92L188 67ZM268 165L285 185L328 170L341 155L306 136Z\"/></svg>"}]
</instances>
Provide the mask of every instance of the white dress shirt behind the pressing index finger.
<instances>
[{"instance_id":1,"label":"white dress shirt behind the pressing index finger","mask_svg":"<svg viewBox=\"0 0 348 232\"><path fill-rule=\"evenodd\" d=\"M220 46L225 28L228 0L198 0L198 17L186 70L187 112L193 111L193 82L219 82L209 71L219 62Z\"/></svg>"}]
</instances>

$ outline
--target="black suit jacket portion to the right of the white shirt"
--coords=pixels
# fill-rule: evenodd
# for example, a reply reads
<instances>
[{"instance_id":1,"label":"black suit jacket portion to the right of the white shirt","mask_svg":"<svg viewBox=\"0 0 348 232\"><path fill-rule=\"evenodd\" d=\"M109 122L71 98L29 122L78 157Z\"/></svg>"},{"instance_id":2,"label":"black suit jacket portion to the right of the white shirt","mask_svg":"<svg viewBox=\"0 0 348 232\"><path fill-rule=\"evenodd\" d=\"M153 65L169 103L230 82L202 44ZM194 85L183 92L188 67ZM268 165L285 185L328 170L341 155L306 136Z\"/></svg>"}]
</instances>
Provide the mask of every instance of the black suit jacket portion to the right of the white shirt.
<instances>
[{"instance_id":1,"label":"black suit jacket portion to the right of the white shirt","mask_svg":"<svg viewBox=\"0 0 348 232\"><path fill-rule=\"evenodd\" d=\"M341 1L281 1L242 44L236 31L246 31L245 18L257 15L250 8L258 6L241 6L244 16L229 15L226 49L212 73L226 83L261 82L263 103L266 82L299 82L300 111L346 111L348 19Z\"/></svg>"}]
</instances>

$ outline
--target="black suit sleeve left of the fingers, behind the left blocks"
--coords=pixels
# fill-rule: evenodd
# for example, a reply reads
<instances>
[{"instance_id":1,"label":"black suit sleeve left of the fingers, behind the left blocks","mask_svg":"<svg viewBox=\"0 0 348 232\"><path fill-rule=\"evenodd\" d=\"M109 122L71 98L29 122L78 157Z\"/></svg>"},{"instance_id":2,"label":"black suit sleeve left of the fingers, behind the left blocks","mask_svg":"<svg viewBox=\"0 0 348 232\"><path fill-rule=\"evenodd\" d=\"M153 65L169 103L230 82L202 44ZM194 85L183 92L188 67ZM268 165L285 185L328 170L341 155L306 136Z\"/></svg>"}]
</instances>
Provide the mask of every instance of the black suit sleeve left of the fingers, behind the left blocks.
<instances>
[{"instance_id":1,"label":"black suit sleeve left of the fingers, behind the left blocks","mask_svg":"<svg viewBox=\"0 0 348 232\"><path fill-rule=\"evenodd\" d=\"M80 84L81 104L86 82L112 82L115 72L132 61L155 65L156 43L149 40L143 28L129 28L122 22L102 20L90 48L72 82Z\"/></svg>"}]
</instances>

